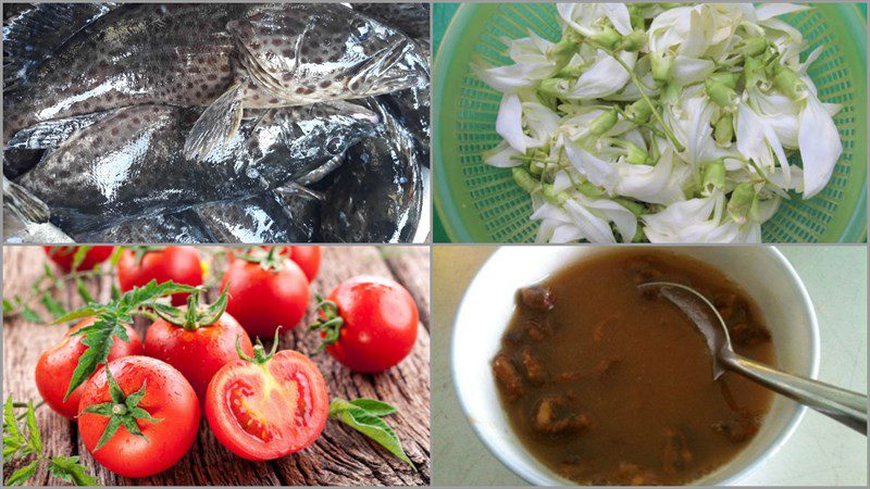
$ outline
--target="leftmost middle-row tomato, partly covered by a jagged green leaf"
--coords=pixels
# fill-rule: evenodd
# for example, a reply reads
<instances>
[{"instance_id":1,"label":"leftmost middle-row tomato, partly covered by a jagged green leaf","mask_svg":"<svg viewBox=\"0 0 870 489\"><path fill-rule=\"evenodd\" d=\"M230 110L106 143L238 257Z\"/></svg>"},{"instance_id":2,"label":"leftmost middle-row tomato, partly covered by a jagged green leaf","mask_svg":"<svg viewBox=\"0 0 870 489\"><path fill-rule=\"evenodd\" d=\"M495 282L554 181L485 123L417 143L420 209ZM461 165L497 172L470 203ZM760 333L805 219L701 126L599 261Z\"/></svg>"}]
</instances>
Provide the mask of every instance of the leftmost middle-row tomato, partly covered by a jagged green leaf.
<instances>
[{"instance_id":1,"label":"leftmost middle-row tomato, partly covered by a jagged green leaf","mask_svg":"<svg viewBox=\"0 0 870 489\"><path fill-rule=\"evenodd\" d=\"M87 350L87 347L82 343L83 337L79 335L72 336L72 334L94 324L95 321L97 321L95 317L80 321L75 327L66 331L60 343L44 351L39 356L39 361L36 362L36 388L39 389L39 394L42 396L46 404L52 410L71 419L78 413L78 401L82 399L82 391L85 386L76 387L65 402L63 398L70 388L70 381L73 379L73 372L78 365L78 358ZM124 325L124 328L127 330L129 342L121 338L114 338L112 348L109 350L110 362L122 356L138 355L142 352L142 342L139 339L139 335L129 325Z\"/></svg>"}]
</instances>

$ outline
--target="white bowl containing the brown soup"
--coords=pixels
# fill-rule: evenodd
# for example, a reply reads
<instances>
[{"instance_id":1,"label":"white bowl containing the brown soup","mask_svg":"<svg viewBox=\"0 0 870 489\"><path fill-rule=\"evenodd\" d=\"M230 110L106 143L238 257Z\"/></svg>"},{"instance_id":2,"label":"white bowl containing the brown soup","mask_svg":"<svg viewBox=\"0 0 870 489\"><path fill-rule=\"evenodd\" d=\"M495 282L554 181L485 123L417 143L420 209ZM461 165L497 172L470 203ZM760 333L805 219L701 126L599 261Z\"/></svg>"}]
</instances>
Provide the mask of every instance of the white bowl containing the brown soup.
<instances>
[{"instance_id":1,"label":"white bowl containing the brown soup","mask_svg":"<svg viewBox=\"0 0 870 489\"><path fill-rule=\"evenodd\" d=\"M506 466L542 486L572 485L535 460L513 434L496 392L490 362L513 314L518 288L538 283L584 256L614 248L511 246L498 249L471 281L457 313L451 346L453 385L477 436ZM804 283L772 247L671 247L725 272L758 303L773 337L778 367L816 378L819 327ZM774 396L756 437L732 461L694 481L735 484L792 435L805 408Z\"/></svg>"}]
</instances>

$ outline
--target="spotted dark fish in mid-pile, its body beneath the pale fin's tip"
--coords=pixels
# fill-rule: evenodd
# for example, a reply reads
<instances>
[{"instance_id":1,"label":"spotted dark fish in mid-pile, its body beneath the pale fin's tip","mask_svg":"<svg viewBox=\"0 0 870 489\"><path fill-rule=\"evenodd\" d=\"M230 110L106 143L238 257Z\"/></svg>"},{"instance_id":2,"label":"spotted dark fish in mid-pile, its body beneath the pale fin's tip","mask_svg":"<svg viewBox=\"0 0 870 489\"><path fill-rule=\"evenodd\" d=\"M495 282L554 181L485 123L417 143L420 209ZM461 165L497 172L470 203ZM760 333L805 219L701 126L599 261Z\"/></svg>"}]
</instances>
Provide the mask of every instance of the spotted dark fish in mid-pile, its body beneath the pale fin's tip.
<instances>
[{"instance_id":1,"label":"spotted dark fish in mid-pile, its body beneath the pale fin's tip","mask_svg":"<svg viewBox=\"0 0 870 489\"><path fill-rule=\"evenodd\" d=\"M111 111L50 151L17 183L66 233L105 229L156 213L238 200L307 175L373 134L378 116L348 102L254 111L226 147L186 160L194 109Z\"/></svg>"}]
</instances>

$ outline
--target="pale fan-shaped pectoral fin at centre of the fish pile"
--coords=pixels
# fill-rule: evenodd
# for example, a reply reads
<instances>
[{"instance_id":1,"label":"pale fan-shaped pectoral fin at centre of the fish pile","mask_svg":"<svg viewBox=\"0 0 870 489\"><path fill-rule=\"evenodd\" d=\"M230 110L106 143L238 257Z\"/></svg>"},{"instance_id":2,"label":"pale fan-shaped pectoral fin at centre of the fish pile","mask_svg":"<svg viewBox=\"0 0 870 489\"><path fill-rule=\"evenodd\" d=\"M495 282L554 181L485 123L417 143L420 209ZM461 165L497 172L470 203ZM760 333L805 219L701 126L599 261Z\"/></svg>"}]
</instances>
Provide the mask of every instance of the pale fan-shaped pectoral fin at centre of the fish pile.
<instances>
[{"instance_id":1,"label":"pale fan-shaped pectoral fin at centre of the fish pile","mask_svg":"<svg viewBox=\"0 0 870 489\"><path fill-rule=\"evenodd\" d=\"M235 83L202 112L184 142L185 159L203 160L235 137L241 124L241 102L247 87L246 80Z\"/></svg>"}]
</instances>

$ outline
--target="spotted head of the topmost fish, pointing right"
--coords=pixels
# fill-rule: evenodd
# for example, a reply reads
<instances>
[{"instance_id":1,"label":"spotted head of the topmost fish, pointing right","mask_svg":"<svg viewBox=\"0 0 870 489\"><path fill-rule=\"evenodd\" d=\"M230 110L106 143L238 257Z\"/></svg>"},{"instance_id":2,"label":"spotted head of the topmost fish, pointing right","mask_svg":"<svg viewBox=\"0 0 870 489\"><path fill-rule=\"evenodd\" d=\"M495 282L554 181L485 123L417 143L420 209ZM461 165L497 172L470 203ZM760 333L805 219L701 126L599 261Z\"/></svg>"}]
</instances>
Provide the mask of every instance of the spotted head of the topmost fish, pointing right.
<instances>
[{"instance_id":1,"label":"spotted head of the topmost fish, pointing right","mask_svg":"<svg viewBox=\"0 0 870 489\"><path fill-rule=\"evenodd\" d=\"M254 86L288 104L428 83L427 60L411 38L340 4L258 5L227 30Z\"/></svg>"}]
</instances>

